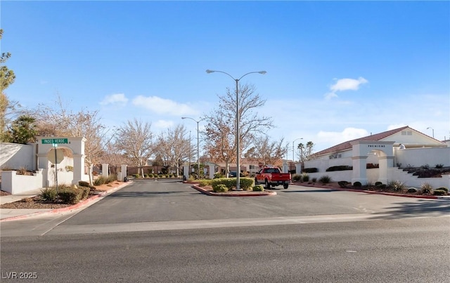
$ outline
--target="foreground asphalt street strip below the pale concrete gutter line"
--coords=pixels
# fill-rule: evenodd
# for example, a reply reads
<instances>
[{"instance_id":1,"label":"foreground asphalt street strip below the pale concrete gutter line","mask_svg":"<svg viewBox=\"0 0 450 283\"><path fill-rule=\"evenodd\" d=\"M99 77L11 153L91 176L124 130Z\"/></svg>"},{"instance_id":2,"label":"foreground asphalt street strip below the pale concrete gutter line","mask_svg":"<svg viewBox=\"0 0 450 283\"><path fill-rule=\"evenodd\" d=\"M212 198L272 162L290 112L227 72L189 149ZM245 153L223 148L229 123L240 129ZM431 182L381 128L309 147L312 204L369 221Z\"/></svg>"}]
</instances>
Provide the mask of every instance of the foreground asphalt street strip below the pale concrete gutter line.
<instances>
[{"instance_id":1,"label":"foreground asphalt street strip below the pale concrete gutter line","mask_svg":"<svg viewBox=\"0 0 450 283\"><path fill-rule=\"evenodd\" d=\"M449 258L446 217L1 239L32 282L448 282Z\"/></svg>"}]
</instances>

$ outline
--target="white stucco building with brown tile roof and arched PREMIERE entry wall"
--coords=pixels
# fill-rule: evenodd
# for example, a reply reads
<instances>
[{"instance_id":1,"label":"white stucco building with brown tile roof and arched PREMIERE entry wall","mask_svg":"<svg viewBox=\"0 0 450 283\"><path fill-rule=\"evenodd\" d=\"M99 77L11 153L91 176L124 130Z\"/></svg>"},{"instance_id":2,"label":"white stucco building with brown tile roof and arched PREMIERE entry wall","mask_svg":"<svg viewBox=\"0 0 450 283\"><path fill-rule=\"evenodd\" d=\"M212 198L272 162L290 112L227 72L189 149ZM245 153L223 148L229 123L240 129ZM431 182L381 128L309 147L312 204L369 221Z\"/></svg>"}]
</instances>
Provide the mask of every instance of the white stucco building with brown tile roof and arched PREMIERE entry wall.
<instances>
[{"instance_id":1,"label":"white stucco building with brown tile roof and arched PREMIERE entry wall","mask_svg":"<svg viewBox=\"0 0 450 283\"><path fill-rule=\"evenodd\" d=\"M303 171L310 177L328 175L333 180L366 183L404 179L418 184L422 180L409 180L401 176L401 168L440 164L450 166L450 147L444 142L416 131L409 126L376 133L340 143L311 155L304 162ZM345 171L333 171L345 167ZM332 170L333 169L333 170ZM374 169L374 170L372 170ZM450 178L437 180L437 184L450 187Z\"/></svg>"}]
</instances>

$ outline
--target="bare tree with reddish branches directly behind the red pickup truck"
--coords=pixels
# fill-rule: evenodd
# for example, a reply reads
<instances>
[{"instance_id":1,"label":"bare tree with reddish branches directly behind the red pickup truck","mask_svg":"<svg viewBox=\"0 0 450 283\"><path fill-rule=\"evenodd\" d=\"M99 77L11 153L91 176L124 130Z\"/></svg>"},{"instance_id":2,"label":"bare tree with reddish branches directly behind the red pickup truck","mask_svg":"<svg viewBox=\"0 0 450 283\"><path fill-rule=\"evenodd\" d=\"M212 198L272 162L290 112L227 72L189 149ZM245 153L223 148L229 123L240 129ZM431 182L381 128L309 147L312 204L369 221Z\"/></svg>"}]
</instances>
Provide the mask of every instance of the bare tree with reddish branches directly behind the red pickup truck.
<instances>
[{"instance_id":1,"label":"bare tree with reddish branches directly behind the red pickup truck","mask_svg":"<svg viewBox=\"0 0 450 283\"><path fill-rule=\"evenodd\" d=\"M269 140L268 136L259 136L255 138L253 146L245 152L244 157L263 164L272 164L280 167L282 165L283 155L286 152L283 145L284 138L278 141Z\"/></svg>"}]
</instances>

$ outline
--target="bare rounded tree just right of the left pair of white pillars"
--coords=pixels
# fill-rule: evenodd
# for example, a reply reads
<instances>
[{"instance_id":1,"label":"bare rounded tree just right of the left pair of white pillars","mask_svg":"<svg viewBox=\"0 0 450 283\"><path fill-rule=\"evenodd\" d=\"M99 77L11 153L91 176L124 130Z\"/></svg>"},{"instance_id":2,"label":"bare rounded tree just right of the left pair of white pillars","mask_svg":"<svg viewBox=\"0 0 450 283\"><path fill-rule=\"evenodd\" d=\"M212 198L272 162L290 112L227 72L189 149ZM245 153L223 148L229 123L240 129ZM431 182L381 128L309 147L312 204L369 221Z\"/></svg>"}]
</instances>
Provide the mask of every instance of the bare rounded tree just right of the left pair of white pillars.
<instances>
[{"instance_id":1,"label":"bare rounded tree just right of the left pair of white pillars","mask_svg":"<svg viewBox=\"0 0 450 283\"><path fill-rule=\"evenodd\" d=\"M143 123L136 118L127 121L117 129L115 146L132 164L138 167L143 176L143 166L153 154L153 133L150 131L151 123Z\"/></svg>"}]
</instances>

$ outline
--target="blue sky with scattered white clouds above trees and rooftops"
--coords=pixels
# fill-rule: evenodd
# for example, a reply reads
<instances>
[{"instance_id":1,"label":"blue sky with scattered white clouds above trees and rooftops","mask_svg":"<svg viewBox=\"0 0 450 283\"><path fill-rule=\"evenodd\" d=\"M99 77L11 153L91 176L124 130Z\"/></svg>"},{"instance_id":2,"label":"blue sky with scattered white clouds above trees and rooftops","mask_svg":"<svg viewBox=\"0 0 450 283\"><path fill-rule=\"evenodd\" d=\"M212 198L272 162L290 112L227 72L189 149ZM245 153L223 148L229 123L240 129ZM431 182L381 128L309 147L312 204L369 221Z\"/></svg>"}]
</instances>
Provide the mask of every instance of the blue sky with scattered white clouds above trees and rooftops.
<instances>
[{"instance_id":1,"label":"blue sky with scattered white clouds above trees and rooftops","mask_svg":"<svg viewBox=\"0 0 450 283\"><path fill-rule=\"evenodd\" d=\"M235 82L268 131L315 151L411 126L450 137L449 1L1 1L1 51L25 107L59 94L107 126L199 119ZM201 122L200 122L201 128ZM430 128L430 129L427 129ZM292 152L289 152L289 156Z\"/></svg>"}]
</instances>

